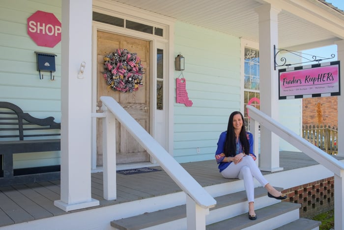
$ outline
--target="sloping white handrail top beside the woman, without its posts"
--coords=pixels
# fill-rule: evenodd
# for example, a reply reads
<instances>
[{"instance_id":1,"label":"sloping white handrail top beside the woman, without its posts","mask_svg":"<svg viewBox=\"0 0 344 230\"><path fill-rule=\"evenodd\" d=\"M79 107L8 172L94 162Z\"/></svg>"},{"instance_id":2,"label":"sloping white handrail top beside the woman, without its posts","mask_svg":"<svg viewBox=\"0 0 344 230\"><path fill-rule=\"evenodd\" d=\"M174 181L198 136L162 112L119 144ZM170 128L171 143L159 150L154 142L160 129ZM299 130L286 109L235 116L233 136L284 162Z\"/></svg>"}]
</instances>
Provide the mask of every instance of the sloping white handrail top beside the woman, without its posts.
<instances>
[{"instance_id":1,"label":"sloping white handrail top beside the woman, without its posts","mask_svg":"<svg viewBox=\"0 0 344 230\"><path fill-rule=\"evenodd\" d=\"M267 116L254 106L247 105L247 108L249 110L250 117L259 122L261 126L264 126L268 130L282 137L297 149L313 158L316 162L322 164L339 177L342 177L342 170L344 170L344 164L342 162L329 156L327 153L317 148L315 145L311 144L301 136L297 135L295 132L289 130L281 123L271 119L271 117Z\"/></svg>"}]
</instances>

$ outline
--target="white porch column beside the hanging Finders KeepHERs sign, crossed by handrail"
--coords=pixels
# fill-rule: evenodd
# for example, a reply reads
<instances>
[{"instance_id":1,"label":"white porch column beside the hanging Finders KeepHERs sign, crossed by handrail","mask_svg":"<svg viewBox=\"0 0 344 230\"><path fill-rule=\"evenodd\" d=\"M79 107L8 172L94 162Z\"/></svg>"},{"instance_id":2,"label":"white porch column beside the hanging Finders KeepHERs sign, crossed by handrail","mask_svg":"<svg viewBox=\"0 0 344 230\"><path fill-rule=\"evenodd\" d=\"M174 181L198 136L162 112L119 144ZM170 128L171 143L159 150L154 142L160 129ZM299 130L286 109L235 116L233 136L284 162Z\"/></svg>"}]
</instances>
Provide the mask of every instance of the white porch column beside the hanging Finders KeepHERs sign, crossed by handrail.
<instances>
[{"instance_id":1,"label":"white porch column beside the hanging Finders KeepHERs sign, crossed by handrail","mask_svg":"<svg viewBox=\"0 0 344 230\"><path fill-rule=\"evenodd\" d=\"M259 86L260 110L278 120L278 71L274 70L274 45L278 48L278 13L280 9L264 4L256 8L259 16ZM260 170L279 171L279 138L260 127Z\"/></svg>"}]
</instances>

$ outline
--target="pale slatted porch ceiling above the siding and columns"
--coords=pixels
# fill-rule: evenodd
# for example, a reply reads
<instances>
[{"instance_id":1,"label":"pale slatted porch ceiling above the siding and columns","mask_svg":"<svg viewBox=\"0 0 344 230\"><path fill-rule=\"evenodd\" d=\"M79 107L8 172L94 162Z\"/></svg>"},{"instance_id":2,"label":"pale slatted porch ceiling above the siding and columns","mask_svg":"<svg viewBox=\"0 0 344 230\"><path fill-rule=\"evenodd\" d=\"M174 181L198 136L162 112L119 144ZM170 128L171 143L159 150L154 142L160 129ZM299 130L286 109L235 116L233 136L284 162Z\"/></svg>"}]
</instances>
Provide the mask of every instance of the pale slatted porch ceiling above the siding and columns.
<instances>
[{"instance_id":1,"label":"pale slatted porch ceiling above the siding and columns","mask_svg":"<svg viewBox=\"0 0 344 230\"><path fill-rule=\"evenodd\" d=\"M255 8L271 2L282 9L279 48L313 48L344 39L344 12L324 0L115 1L255 42L259 41Z\"/></svg>"}]
</instances>

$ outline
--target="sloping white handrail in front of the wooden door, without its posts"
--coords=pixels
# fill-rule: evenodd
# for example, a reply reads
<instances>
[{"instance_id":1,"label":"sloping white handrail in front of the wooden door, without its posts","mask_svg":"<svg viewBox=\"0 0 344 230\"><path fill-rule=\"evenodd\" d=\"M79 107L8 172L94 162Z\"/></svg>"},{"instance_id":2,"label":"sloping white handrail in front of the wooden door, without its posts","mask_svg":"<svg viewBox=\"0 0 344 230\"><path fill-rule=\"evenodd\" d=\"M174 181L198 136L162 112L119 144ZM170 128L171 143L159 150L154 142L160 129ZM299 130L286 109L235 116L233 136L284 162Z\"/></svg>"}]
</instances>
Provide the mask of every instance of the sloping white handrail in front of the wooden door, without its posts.
<instances>
[{"instance_id":1,"label":"sloping white handrail in front of the wooden door, without its posts","mask_svg":"<svg viewBox=\"0 0 344 230\"><path fill-rule=\"evenodd\" d=\"M105 96L100 99L121 125L199 206L211 208L216 205L216 200L115 99Z\"/></svg>"}]
</instances>

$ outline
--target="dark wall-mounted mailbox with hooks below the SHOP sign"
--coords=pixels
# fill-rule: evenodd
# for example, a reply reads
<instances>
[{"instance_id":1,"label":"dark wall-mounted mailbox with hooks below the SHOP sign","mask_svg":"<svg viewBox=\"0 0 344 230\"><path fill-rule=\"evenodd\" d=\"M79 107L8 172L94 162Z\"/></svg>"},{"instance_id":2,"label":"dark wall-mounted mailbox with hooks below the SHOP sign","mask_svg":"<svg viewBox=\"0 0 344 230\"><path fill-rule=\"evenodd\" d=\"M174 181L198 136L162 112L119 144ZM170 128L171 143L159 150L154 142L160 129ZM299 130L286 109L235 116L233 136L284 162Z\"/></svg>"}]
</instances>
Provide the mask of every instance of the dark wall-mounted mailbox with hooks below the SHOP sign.
<instances>
[{"instance_id":1,"label":"dark wall-mounted mailbox with hooks below the SHOP sign","mask_svg":"<svg viewBox=\"0 0 344 230\"><path fill-rule=\"evenodd\" d=\"M36 51L35 54L37 56L37 71L39 71L39 79L43 79L43 74L41 75L41 71L46 71L50 72L50 80L54 80L55 76L53 76L53 72L56 71L55 57L57 55Z\"/></svg>"}]
</instances>

